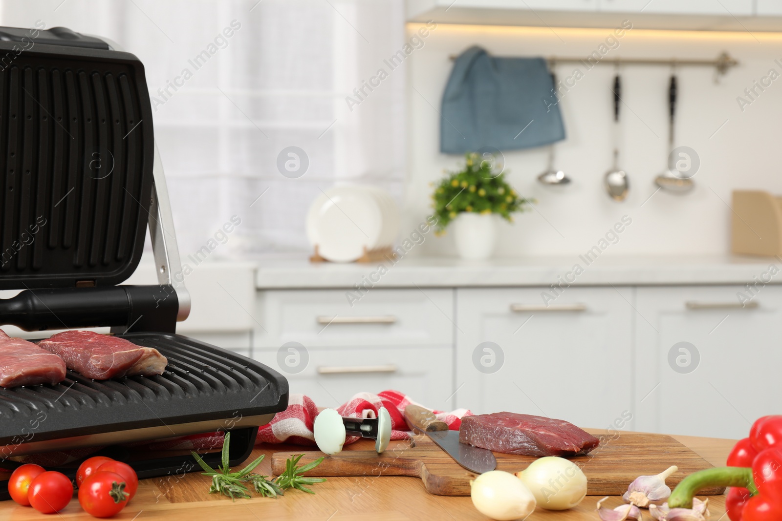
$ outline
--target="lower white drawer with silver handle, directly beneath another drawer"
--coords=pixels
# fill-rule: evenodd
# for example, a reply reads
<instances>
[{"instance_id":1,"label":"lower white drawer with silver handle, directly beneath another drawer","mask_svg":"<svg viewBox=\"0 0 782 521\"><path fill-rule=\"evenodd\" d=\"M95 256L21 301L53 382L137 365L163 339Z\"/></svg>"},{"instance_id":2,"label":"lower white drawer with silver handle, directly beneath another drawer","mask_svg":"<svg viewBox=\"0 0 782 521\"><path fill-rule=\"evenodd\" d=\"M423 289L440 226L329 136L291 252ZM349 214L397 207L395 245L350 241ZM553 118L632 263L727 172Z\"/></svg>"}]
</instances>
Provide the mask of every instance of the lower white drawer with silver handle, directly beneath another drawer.
<instances>
[{"instance_id":1,"label":"lower white drawer with silver handle, directly beneath another drawer","mask_svg":"<svg viewBox=\"0 0 782 521\"><path fill-rule=\"evenodd\" d=\"M291 373L280 363L278 349L253 351L256 360L288 379L291 393L307 394L319 407L337 407L362 391L396 389L427 407L451 409L452 348L321 348L298 356L308 359L306 366Z\"/></svg>"}]
</instances>

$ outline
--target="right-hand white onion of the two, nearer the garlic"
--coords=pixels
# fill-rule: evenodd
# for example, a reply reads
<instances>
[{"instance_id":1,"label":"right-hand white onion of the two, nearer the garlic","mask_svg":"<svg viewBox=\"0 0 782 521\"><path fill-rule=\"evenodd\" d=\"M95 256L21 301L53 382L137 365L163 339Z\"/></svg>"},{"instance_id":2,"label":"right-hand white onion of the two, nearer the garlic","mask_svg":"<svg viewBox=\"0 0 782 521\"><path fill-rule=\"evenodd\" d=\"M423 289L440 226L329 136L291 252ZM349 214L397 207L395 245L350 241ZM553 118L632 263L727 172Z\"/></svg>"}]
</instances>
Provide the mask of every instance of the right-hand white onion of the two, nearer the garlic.
<instances>
[{"instance_id":1,"label":"right-hand white onion of the two, nearer the garlic","mask_svg":"<svg viewBox=\"0 0 782 521\"><path fill-rule=\"evenodd\" d=\"M556 456L536 459L516 476L543 509L572 509L587 495L587 476L569 459Z\"/></svg>"}]
</instances>

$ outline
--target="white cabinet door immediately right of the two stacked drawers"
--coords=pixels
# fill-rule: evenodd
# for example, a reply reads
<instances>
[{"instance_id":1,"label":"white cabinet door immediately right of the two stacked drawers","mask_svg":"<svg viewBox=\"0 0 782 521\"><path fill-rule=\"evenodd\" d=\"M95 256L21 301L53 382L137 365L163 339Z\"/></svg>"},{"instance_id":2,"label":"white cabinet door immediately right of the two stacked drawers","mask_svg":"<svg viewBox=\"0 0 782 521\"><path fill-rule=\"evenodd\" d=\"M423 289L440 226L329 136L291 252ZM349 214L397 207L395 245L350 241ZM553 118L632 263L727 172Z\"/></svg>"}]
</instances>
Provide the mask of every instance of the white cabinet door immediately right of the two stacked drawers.
<instances>
[{"instance_id":1,"label":"white cabinet door immediately right of the two stacked drawers","mask_svg":"<svg viewBox=\"0 0 782 521\"><path fill-rule=\"evenodd\" d=\"M548 307L541 291L457 290L455 405L597 428L633 414L633 289L569 287Z\"/></svg>"}]
</instances>

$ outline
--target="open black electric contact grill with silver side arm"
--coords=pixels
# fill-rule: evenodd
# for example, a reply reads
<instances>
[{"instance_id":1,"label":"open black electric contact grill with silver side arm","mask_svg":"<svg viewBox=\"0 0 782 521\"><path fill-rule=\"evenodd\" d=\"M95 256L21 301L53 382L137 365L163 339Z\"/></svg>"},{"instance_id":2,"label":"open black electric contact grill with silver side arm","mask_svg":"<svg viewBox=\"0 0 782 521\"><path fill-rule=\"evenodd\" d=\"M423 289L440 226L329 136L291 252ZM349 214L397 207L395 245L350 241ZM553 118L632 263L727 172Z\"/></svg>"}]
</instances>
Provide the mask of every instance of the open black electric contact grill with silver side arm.
<instances>
[{"instance_id":1,"label":"open black electric contact grill with silver side arm","mask_svg":"<svg viewBox=\"0 0 782 521\"><path fill-rule=\"evenodd\" d=\"M288 383L175 334L190 309L187 272L142 62L64 27L0 27L0 190L0 289L22 290L0 299L0 325L111 327L168 359L160 376L97 381L69 370L61 384L0 388L0 467L214 430L233 433L231 465L246 459L258 426L288 405ZM117 285L138 266L148 226L160 284ZM129 463L139 477L198 468L189 456Z\"/></svg>"}]
</instances>

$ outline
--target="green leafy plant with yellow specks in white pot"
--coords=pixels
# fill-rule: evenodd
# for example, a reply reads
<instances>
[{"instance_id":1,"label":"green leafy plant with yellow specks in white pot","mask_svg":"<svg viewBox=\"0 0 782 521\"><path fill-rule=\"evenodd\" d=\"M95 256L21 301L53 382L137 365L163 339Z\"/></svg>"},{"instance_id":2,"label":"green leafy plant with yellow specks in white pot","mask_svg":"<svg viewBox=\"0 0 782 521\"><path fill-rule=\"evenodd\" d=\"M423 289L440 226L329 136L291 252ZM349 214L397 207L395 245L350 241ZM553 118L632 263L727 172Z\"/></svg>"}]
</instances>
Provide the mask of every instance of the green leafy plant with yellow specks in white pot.
<instances>
[{"instance_id":1,"label":"green leafy plant with yellow specks in white pot","mask_svg":"<svg viewBox=\"0 0 782 521\"><path fill-rule=\"evenodd\" d=\"M459 256L489 259L497 241L497 217L512 223L512 214L525 211L533 201L516 193L492 159L475 152L465 155L461 170L447 174L432 194L437 233L453 223Z\"/></svg>"}]
</instances>

